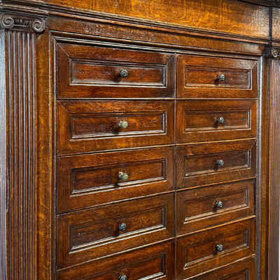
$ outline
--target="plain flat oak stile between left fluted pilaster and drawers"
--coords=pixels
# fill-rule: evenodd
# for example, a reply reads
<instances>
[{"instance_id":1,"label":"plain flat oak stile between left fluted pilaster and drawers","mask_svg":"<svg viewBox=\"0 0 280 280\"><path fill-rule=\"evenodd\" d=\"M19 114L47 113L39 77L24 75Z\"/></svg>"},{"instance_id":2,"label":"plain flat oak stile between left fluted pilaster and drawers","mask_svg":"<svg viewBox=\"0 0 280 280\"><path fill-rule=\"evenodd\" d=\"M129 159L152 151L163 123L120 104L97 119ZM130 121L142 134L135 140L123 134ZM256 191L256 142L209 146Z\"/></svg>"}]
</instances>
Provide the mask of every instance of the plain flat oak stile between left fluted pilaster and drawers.
<instances>
[{"instance_id":1,"label":"plain flat oak stile between left fluted pilaster and drawers","mask_svg":"<svg viewBox=\"0 0 280 280\"><path fill-rule=\"evenodd\" d=\"M54 100L52 99L53 80L49 77L52 69L49 59L50 38L48 29L37 41L37 273L35 280L52 280L55 274L55 123L53 121ZM48 78L45 78L48 77ZM40 187L38 187L40 186Z\"/></svg>"}]
</instances>

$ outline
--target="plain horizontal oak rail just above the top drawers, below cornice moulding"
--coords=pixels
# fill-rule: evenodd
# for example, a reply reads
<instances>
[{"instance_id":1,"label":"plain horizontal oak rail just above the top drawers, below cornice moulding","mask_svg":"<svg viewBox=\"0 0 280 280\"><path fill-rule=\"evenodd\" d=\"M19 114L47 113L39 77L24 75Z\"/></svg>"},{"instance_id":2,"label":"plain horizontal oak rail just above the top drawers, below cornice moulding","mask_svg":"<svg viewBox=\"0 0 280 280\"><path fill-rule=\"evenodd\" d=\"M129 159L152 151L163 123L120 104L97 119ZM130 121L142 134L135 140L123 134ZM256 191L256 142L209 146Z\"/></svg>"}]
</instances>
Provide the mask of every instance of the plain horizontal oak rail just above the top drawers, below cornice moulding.
<instances>
[{"instance_id":1,"label":"plain horizontal oak rail just above the top drawers, below cornice moulding","mask_svg":"<svg viewBox=\"0 0 280 280\"><path fill-rule=\"evenodd\" d=\"M153 27L151 24L143 25L131 24L123 25L122 22L118 25L116 19L109 20L106 19L96 22L92 18L84 19L82 15L78 15L76 11L75 16L77 19L60 18L57 16L49 17L46 21L50 29L56 30L53 35L57 39L57 42L61 43L76 43L76 38L79 39L97 39L106 42L107 46L113 48L114 43L122 43L124 45L133 45L135 48L139 48L139 41L141 45L146 45L146 47L151 44L157 44L161 48L168 48L169 51L174 49L178 50L197 50L197 48L202 48L204 50L216 50L221 52L232 53L244 53L246 55L262 55L263 46L251 43L252 38L247 37L239 38L239 41L225 40L225 36L214 36L213 34L204 34L204 36L199 36L200 33L195 31L187 31L185 29L180 29L176 27L170 30L170 25L166 27ZM106 23L109 22L109 23ZM110 24L111 22L111 24ZM64 30L69 29L74 31L75 36L67 36L64 34ZM110 36L110 38L108 38ZM227 34L227 37L229 34ZM210 37L210 38L208 38ZM255 41L255 40L253 40ZM99 42L100 43L100 42ZM258 42L260 43L260 42Z\"/></svg>"}]
</instances>

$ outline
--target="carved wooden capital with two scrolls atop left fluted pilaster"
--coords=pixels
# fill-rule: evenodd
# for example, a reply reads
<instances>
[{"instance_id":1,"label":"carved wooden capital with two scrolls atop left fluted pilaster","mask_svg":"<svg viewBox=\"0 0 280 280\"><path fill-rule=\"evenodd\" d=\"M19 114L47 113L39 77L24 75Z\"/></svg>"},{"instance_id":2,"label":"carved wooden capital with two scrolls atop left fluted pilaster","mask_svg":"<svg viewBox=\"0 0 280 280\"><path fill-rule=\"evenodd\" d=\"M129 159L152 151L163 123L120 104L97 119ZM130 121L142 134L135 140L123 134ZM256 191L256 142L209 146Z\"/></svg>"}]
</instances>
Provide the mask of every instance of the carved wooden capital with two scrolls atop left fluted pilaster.
<instances>
[{"instance_id":1,"label":"carved wooden capital with two scrolls atop left fluted pilaster","mask_svg":"<svg viewBox=\"0 0 280 280\"><path fill-rule=\"evenodd\" d=\"M0 26L3 29L31 29L41 33L45 30L45 20L5 13L0 16Z\"/></svg>"}]
</instances>

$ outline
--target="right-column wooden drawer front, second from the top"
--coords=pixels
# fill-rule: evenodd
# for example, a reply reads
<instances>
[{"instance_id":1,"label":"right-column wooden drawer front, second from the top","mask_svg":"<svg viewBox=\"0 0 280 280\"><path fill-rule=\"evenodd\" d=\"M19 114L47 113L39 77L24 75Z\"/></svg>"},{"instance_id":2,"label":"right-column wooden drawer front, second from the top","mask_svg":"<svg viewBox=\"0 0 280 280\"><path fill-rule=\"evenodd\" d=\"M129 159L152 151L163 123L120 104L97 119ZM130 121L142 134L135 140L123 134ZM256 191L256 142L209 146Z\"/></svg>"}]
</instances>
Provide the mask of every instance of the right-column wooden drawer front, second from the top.
<instances>
[{"instance_id":1,"label":"right-column wooden drawer front, second from the top","mask_svg":"<svg viewBox=\"0 0 280 280\"><path fill-rule=\"evenodd\" d=\"M180 144L256 137L256 101L177 102L176 141Z\"/></svg>"}]
</instances>

